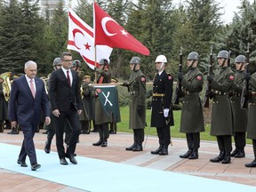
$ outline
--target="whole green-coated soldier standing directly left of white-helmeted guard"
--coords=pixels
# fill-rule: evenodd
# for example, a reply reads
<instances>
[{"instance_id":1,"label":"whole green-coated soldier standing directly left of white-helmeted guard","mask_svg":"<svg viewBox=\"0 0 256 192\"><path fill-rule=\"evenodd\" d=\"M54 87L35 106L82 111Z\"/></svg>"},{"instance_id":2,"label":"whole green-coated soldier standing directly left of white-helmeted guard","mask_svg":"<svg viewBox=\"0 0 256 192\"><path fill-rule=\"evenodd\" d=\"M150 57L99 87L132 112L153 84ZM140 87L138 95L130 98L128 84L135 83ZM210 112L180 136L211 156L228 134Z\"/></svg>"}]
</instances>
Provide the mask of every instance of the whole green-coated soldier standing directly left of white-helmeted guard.
<instances>
[{"instance_id":1,"label":"whole green-coated soldier standing directly left of white-helmeted guard","mask_svg":"<svg viewBox=\"0 0 256 192\"><path fill-rule=\"evenodd\" d=\"M130 121L129 129L133 131L133 144L126 150L142 151L142 142L144 141L144 128L146 125L146 76L140 70L140 58L132 57L130 61L132 74L128 83L130 94Z\"/></svg>"}]
</instances>

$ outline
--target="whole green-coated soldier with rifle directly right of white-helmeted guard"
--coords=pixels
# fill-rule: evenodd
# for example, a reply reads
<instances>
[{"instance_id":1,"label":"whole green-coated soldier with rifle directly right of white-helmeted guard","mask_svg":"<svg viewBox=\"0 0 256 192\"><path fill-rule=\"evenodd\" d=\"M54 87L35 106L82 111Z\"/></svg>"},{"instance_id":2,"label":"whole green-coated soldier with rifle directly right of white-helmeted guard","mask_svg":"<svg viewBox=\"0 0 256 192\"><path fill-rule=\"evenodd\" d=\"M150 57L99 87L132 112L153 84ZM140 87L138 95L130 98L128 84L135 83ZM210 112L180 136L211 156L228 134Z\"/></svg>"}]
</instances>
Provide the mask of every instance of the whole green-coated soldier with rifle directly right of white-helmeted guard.
<instances>
[{"instance_id":1,"label":"whole green-coated soldier with rifle directly right of white-helmeted guard","mask_svg":"<svg viewBox=\"0 0 256 192\"><path fill-rule=\"evenodd\" d=\"M188 151L180 158L197 159L200 147L200 132L204 132L204 114L199 93L203 90L203 74L197 68L199 55L197 52L188 54L188 73L178 74L184 92L180 132L186 133Z\"/></svg>"}]
</instances>

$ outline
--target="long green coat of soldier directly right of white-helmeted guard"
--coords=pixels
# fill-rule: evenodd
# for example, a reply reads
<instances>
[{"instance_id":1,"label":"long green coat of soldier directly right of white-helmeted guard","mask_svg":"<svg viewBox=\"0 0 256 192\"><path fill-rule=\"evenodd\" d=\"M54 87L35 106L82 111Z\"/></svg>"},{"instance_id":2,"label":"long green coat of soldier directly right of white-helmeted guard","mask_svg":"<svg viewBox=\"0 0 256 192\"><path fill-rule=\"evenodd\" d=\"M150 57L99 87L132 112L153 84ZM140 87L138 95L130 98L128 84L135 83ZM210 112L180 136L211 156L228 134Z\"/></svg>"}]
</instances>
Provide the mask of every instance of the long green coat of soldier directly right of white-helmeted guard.
<instances>
[{"instance_id":1,"label":"long green coat of soldier directly right of white-helmeted guard","mask_svg":"<svg viewBox=\"0 0 256 192\"><path fill-rule=\"evenodd\" d=\"M180 119L180 132L204 132L204 114L199 92L204 78L198 68L191 68L181 81L184 97Z\"/></svg>"}]
</instances>

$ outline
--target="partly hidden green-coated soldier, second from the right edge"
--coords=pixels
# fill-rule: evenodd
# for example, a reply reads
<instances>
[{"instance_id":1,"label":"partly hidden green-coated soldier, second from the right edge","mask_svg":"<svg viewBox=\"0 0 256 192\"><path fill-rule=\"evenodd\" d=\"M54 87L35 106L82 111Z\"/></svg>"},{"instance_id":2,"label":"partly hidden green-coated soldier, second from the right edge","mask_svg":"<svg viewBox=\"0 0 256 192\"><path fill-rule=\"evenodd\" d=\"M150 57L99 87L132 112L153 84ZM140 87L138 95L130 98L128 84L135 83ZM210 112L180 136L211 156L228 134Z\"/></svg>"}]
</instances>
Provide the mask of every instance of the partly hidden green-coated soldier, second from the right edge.
<instances>
[{"instance_id":1,"label":"partly hidden green-coated soldier, second from the right edge","mask_svg":"<svg viewBox=\"0 0 256 192\"><path fill-rule=\"evenodd\" d=\"M244 83L244 66L245 66L245 56L238 55L236 57L236 76L235 82L230 91L230 100L233 112L233 125L234 125L234 139L235 139L235 150L230 154L230 156L235 156L241 158L245 156L244 147L246 144L245 133L247 131L247 110L241 108L241 94L243 91Z\"/></svg>"}]
</instances>

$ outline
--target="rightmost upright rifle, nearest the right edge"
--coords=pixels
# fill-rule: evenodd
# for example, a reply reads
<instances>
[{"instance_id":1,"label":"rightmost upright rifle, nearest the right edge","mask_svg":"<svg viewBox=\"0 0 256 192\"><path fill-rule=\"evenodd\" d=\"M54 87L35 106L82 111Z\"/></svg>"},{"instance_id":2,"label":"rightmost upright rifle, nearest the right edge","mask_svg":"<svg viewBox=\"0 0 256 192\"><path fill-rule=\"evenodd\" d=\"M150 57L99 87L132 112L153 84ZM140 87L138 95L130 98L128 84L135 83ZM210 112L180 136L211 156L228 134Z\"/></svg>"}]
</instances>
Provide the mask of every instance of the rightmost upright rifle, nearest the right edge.
<instances>
[{"instance_id":1,"label":"rightmost upright rifle, nearest the right edge","mask_svg":"<svg viewBox=\"0 0 256 192\"><path fill-rule=\"evenodd\" d=\"M250 44L247 44L247 51L246 51L246 64L245 64L245 73L249 73L249 63L250 63L250 51L249 51ZM249 80L244 79L244 86L241 96L241 108L248 108L248 99L249 99Z\"/></svg>"}]
</instances>

